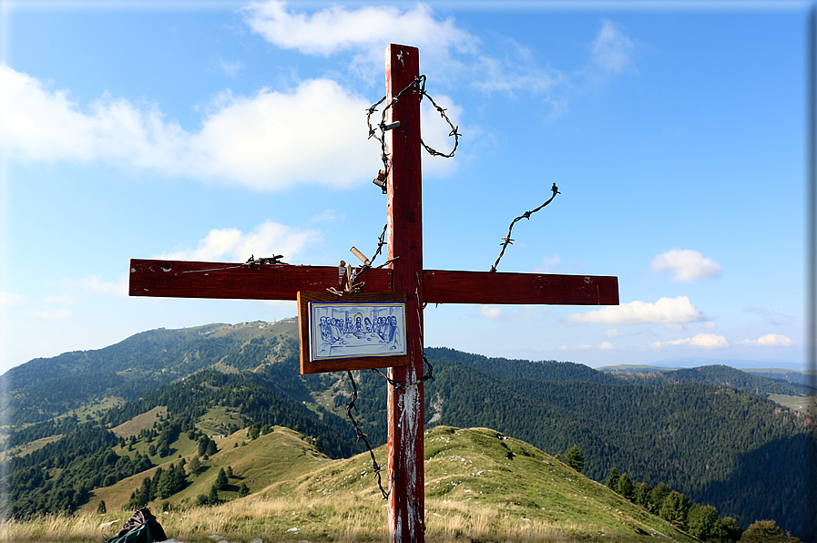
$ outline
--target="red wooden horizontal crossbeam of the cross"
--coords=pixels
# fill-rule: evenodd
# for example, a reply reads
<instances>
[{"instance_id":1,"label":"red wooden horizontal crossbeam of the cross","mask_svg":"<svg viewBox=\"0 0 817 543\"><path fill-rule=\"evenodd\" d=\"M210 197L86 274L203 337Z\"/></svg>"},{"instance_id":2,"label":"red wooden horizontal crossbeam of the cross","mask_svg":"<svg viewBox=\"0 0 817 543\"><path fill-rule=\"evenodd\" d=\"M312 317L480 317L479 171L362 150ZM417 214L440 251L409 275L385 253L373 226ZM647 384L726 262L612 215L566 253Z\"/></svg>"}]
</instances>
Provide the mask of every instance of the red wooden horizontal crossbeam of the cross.
<instances>
[{"instance_id":1,"label":"red wooden horizontal crossbeam of the cross","mask_svg":"<svg viewBox=\"0 0 817 543\"><path fill-rule=\"evenodd\" d=\"M427 303L618 305L618 278L608 276L424 270ZM343 291L344 268L230 262L130 261L131 296L295 300L300 291ZM370 268L363 292L391 292L392 271Z\"/></svg>"}]
</instances>

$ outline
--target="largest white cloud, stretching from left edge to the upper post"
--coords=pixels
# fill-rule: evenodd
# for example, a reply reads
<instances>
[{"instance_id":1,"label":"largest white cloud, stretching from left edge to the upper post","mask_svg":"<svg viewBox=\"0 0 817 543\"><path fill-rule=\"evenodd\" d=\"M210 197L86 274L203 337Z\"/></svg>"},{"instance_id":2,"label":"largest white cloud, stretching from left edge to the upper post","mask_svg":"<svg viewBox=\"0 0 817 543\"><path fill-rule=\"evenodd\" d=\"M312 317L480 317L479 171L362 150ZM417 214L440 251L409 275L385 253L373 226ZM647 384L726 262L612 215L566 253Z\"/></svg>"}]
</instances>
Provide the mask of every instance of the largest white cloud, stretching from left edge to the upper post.
<instances>
[{"instance_id":1,"label":"largest white cloud, stretching from left edge to the upper post","mask_svg":"<svg viewBox=\"0 0 817 543\"><path fill-rule=\"evenodd\" d=\"M187 132L156 106L124 98L102 97L85 112L66 91L0 66L0 146L21 159L100 160L255 190L371 181L372 163L360 159L380 150L366 138L369 106L329 79L250 97L227 91L199 132Z\"/></svg>"}]
</instances>

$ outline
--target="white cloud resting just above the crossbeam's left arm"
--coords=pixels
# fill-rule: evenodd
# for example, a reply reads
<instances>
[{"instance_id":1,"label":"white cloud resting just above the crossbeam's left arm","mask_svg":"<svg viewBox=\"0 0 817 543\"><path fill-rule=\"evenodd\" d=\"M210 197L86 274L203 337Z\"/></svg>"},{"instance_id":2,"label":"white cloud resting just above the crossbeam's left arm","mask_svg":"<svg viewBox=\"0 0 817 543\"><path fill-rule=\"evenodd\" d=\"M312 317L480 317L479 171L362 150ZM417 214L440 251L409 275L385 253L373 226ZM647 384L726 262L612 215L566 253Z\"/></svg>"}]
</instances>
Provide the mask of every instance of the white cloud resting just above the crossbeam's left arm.
<instances>
[{"instance_id":1,"label":"white cloud resting just above the crossbeam's left arm","mask_svg":"<svg viewBox=\"0 0 817 543\"><path fill-rule=\"evenodd\" d=\"M283 261L291 262L307 244L320 240L317 231L267 220L249 233L235 228L211 230L199 241L196 249L177 248L157 258L173 261L246 261L250 255L261 258L281 254Z\"/></svg>"}]
</instances>

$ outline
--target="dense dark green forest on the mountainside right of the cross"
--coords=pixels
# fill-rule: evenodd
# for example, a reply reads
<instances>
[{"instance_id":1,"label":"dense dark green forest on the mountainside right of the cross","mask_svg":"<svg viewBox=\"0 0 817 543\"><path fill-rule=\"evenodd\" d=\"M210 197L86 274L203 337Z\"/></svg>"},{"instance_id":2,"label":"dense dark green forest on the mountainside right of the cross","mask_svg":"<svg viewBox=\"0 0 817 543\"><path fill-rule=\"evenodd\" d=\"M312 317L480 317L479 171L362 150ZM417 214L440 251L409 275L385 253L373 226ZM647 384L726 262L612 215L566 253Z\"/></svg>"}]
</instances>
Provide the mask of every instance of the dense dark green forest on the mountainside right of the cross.
<instances>
[{"instance_id":1,"label":"dense dark green forest on the mountainside right of the cross","mask_svg":"<svg viewBox=\"0 0 817 543\"><path fill-rule=\"evenodd\" d=\"M462 362L432 359L435 381L425 384L436 424L494 428L545 451L576 444L592 479L628 466L631 477L663 481L743 526L774 518L795 535L807 531L801 466L817 451L806 417L726 386L634 384L579 364L454 353ZM577 380L557 380L560 370ZM371 409L382 412L384 397ZM362 427L380 437L368 421Z\"/></svg>"}]
</instances>

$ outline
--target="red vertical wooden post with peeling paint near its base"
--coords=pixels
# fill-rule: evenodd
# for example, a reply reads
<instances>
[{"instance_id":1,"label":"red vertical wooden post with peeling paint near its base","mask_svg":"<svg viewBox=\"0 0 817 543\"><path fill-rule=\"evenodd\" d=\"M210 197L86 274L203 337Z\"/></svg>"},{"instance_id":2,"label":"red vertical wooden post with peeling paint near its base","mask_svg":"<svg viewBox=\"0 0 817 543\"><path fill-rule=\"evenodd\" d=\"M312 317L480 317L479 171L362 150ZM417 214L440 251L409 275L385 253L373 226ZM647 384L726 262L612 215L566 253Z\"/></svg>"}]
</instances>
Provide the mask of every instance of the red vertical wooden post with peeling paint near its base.
<instances>
[{"instance_id":1,"label":"red vertical wooden post with peeling paint near its base","mask_svg":"<svg viewBox=\"0 0 817 543\"><path fill-rule=\"evenodd\" d=\"M386 102L420 75L416 47L386 48ZM391 153L388 177L388 244L393 291L406 293L406 345L409 364L389 370L401 384L417 383L423 376L423 205L420 158L420 91L412 88L389 108L387 122L400 127L386 132ZM424 390L389 385L389 538L424 541Z\"/></svg>"}]
</instances>

